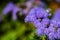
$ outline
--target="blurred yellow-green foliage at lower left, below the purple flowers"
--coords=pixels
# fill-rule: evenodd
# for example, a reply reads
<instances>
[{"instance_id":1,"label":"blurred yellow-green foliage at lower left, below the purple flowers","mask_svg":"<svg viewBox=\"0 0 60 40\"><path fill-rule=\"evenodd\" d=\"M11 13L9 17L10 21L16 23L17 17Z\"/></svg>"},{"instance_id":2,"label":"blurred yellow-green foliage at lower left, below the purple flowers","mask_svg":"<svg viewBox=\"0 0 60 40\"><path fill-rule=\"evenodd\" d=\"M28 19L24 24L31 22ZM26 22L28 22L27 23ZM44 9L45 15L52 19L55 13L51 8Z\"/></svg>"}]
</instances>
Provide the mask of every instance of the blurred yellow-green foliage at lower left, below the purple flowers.
<instances>
[{"instance_id":1,"label":"blurred yellow-green foliage at lower left, below the purple flowers","mask_svg":"<svg viewBox=\"0 0 60 40\"><path fill-rule=\"evenodd\" d=\"M33 30L35 30L34 26L29 23L6 22L1 26L1 31L4 32L4 34L1 34L1 40L17 40L17 37L19 37L19 40L33 39Z\"/></svg>"}]
</instances>

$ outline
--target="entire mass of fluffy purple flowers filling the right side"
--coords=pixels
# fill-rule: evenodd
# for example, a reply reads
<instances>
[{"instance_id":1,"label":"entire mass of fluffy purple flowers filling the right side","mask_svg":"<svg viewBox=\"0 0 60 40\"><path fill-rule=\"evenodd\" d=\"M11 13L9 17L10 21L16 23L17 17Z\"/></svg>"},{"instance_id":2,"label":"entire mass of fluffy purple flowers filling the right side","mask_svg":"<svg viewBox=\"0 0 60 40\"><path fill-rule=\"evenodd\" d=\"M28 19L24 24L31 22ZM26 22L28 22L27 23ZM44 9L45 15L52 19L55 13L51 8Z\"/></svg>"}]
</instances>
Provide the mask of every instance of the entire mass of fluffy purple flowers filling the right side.
<instances>
[{"instance_id":1,"label":"entire mass of fluffy purple flowers filling the right side","mask_svg":"<svg viewBox=\"0 0 60 40\"><path fill-rule=\"evenodd\" d=\"M41 8L34 7L25 18L25 22L32 22L36 27L38 36L47 35L49 40L60 39L60 9L57 9L49 19L49 13Z\"/></svg>"}]
</instances>

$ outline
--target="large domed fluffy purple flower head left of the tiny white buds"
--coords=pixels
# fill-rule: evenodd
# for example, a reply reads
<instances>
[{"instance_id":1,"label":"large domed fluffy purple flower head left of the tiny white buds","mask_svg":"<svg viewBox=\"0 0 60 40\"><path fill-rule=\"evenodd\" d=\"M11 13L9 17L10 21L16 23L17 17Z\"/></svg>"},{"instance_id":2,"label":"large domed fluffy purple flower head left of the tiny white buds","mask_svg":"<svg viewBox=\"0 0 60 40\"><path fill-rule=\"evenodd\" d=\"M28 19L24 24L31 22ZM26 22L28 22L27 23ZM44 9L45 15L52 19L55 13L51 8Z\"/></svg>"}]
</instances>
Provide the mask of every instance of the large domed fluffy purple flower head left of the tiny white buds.
<instances>
[{"instance_id":1,"label":"large domed fluffy purple flower head left of the tiny white buds","mask_svg":"<svg viewBox=\"0 0 60 40\"><path fill-rule=\"evenodd\" d=\"M36 27L36 34L38 36L44 34L49 35L48 28L46 28L50 22L48 16L49 14L45 9L38 6L34 6L26 16L25 22L32 22L34 24L34 26Z\"/></svg>"}]
</instances>

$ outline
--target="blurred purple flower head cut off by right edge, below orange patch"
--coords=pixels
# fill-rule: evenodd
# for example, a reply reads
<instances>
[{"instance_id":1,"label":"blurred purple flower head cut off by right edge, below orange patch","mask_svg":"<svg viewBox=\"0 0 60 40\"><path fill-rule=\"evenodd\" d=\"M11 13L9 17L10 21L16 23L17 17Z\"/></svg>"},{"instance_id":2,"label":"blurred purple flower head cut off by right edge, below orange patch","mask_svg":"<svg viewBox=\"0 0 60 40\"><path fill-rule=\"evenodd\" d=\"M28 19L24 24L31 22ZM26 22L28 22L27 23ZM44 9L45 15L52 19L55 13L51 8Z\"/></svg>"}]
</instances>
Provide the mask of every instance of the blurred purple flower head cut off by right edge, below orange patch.
<instances>
[{"instance_id":1,"label":"blurred purple flower head cut off by right edge, below orange patch","mask_svg":"<svg viewBox=\"0 0 60 40\"><path fill-rule=\"evenodd\" d=\"M57 9L51 19L51 24L55 27L60 26L60 8Z\"/></svg>"}]
</instances>

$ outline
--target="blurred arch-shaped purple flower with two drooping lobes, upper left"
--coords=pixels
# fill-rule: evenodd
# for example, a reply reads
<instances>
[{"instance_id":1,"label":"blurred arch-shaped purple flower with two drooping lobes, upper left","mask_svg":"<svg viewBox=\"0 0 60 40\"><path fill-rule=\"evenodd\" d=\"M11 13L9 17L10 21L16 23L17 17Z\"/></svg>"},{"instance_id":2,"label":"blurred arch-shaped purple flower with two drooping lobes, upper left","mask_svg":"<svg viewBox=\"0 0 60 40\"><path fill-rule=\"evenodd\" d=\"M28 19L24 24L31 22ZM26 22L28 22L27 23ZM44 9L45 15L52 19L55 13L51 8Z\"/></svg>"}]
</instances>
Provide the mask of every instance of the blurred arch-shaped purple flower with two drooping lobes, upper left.
<instances>
[{"instance_id":1,"label":"blurred arch-shaped purple flower with two drooping lobes, upper left","mask_svg":"<svg viewBox=\"0 0 60 40\"><path fill-rule=\"evenodd\" d=\"M7 15L10 11L12 11L12 18L16 20L16 13L20 11L20 9L12 2L9 2L7 6L3 9L3 14Z\"/></svg>"}]
</instances>

